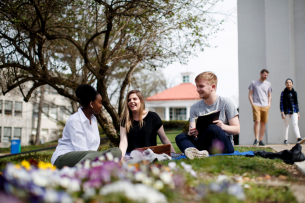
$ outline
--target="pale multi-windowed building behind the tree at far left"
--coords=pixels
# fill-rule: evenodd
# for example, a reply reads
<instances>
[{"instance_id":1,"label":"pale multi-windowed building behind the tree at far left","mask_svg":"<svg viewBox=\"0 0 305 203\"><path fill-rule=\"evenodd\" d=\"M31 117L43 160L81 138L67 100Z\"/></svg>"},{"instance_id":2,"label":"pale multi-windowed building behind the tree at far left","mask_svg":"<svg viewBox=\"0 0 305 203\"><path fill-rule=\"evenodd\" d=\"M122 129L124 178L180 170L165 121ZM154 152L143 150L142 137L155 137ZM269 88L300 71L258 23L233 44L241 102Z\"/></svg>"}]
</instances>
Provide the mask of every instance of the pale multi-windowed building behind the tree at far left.
<instances>
[{"instance_id":1,"label":"pale multi-windowed building behind the tree at far left","mask_svg":"<svg viewBox=\"0 0 305 203\"><path fill-rule=\"evenodd\" d=\"M39 97L38 97L39 98ZM66 121L72 112L68 99L45 87L40 139L44 142L58 139L62 127L57 121ZM9 147L12 139L20 139L21 145L28 145L36 135L38 102L31 99L24 102L15 90L0 96L0 142L1 147Z\"/></svg>"}]
</instances>

